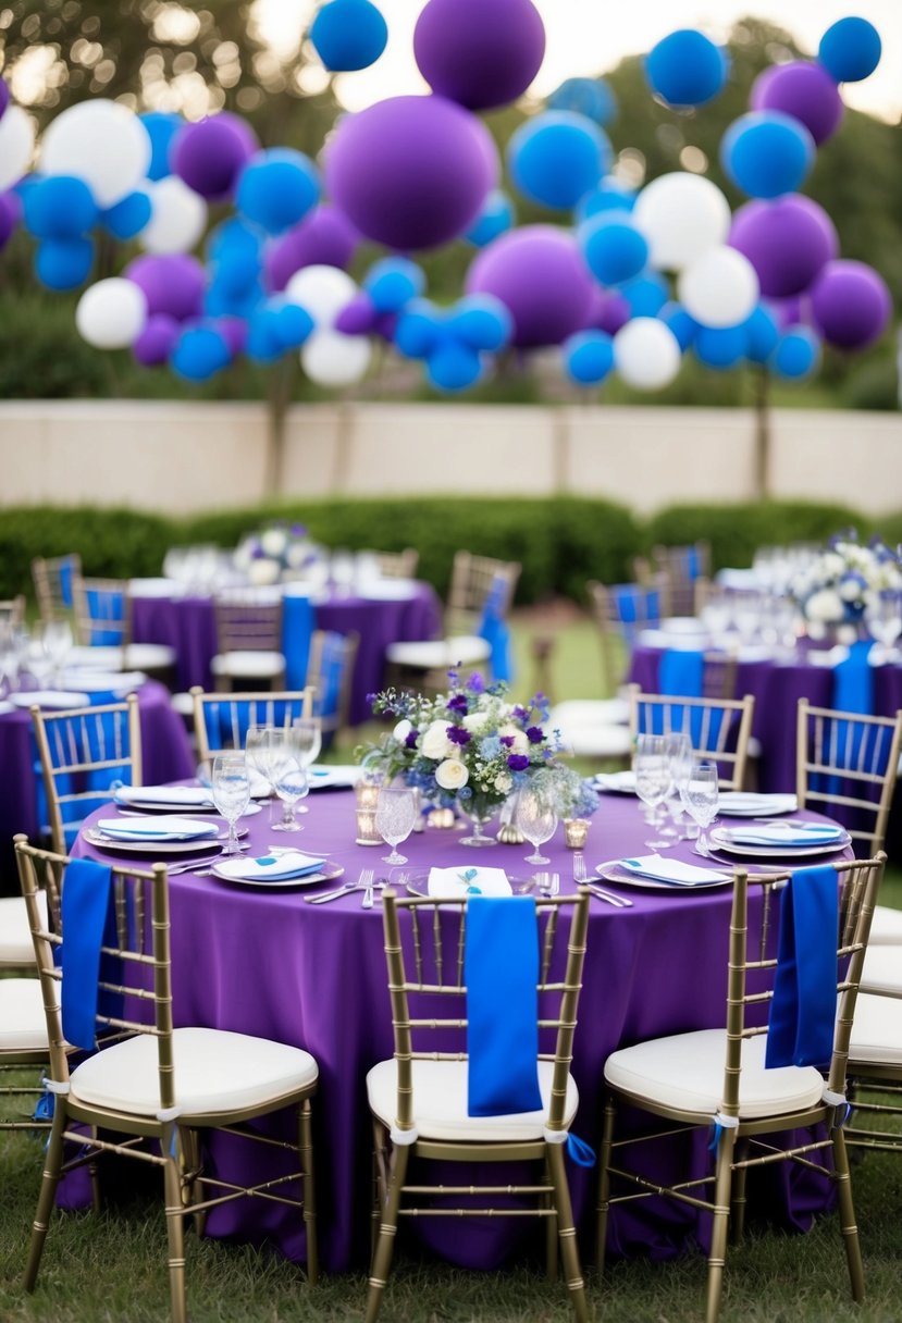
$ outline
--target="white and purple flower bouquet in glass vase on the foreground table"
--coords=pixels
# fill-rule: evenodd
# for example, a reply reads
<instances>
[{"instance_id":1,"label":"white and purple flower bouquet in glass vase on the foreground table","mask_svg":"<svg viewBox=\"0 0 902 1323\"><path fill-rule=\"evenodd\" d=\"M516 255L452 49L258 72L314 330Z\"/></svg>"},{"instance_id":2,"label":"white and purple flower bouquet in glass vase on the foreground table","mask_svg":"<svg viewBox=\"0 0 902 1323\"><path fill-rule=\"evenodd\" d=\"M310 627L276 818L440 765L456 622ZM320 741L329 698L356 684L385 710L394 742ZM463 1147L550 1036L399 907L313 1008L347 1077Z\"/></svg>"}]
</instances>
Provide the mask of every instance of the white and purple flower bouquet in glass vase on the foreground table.
<instances>
[{"instance_id":1,"label":"white and purple flower bouquet in glass vase on the foreground table","mask_svg":"<svg viewBox=\"0 0 902 1323\"><path fill-rule=\"evenodd\" d=\"M460 683L448 672L447 693L425 697L386 689L370 695L377 716L397 717L391 732L377 744L357 750L364 766L419 790L439 808L454 808L473 823L473 835L462 844L493 845L485 823L505 799L540 771L557 777L557 737L545 730L548 701L537 693L530 703L508 701L507 684L487 685L473 673Z\"/></svg>"}]
</instances>

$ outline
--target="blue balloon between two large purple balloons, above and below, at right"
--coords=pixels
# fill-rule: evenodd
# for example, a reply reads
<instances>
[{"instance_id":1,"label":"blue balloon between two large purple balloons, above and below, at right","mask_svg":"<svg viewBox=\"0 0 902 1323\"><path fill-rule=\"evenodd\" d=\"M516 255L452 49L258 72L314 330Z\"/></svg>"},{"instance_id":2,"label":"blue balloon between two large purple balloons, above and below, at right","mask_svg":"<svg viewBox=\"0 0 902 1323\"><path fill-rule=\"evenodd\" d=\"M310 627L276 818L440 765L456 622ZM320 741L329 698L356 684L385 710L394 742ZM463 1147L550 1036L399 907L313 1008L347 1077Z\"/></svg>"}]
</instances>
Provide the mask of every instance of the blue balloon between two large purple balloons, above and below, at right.
<instances>
[{"instance_id":1,"label":"blue balloon between two large purple balloons, above and below, at right","mask_svg":"<svg viewBox=\"0 0 902 1323\"><path fill-rule=\"evenodd\" d=\"M721 164L750 197L782 197L801 188L815 164L815 139L801 120L779 110L757 110L727 128Z\"/></svg>"}]
</instances>

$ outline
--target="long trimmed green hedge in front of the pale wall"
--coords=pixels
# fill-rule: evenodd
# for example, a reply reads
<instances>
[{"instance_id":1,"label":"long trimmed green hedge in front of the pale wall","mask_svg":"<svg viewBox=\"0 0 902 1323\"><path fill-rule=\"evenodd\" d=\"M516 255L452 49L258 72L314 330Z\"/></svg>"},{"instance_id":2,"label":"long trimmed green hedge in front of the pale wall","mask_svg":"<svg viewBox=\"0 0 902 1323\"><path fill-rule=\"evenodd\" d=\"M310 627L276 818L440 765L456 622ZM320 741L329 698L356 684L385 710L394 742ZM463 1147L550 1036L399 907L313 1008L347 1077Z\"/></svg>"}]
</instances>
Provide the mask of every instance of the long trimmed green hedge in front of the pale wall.
<instances>
[{"instance_id":1,"label":"long trimmed green hedge in front of the pale wall","mask_svg":"<svg viewBox=\"0 0 902 1323\"><path fill-rule=\"evenodd\" d=\"M153 576L161 572L169 546L235 546L242 534L274 519L307 524L325 546L382 552L417 546L419 573L440 595L447 591L451 560L460 546L518 560L521 605L553 595L582 602L586 579L630 579L632 557L647 553L655 542L684 545L708 538L717 569L750 565L758 546L824 541L849 527L862 536L873 531L872 520L846 507L798 501L673 505L645 523L612 501L571 496L336 499L189 519L93 507L17 507L0 511L0 598L32 591L34 556L78 552L87 574ZM890 545L898 541L902 513L881 520L880 532Z\"/></svg>"}]
</instances>

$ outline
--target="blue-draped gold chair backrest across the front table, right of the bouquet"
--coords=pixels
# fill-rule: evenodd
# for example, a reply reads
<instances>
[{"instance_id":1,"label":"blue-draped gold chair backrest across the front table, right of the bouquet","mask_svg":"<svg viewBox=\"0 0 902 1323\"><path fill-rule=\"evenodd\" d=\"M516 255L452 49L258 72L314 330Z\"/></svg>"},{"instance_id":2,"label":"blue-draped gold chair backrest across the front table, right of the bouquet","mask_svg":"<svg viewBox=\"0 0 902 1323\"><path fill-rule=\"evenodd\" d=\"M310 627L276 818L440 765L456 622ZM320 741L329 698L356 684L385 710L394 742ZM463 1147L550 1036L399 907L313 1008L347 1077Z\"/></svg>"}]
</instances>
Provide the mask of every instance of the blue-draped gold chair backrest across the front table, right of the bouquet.
<instances>
[{"instance_id":1,"label":"blue-draped gold chair backrest across the front table, right of the bouquet","mask_svg":"<svg viewBox=\"0 0 902 1323\"><path fill-rule=\"evenodd\" d=\"M743 786L754 712L751 693L745 699L686 699L643 693L637 684L630 685L630 734L684 732L697 758L717 762L721 790Z\"/></svg>"}]
</instances>

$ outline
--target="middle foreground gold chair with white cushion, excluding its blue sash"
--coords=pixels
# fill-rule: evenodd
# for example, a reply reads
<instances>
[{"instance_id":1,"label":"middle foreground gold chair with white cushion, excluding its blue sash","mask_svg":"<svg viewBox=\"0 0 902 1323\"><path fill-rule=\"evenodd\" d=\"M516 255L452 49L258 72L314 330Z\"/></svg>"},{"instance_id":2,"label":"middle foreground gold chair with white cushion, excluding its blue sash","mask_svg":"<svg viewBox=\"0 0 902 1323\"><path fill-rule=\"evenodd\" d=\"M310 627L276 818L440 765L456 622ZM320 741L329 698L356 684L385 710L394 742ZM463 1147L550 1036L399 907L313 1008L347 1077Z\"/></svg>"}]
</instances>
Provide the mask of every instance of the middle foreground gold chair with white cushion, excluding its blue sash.
<instances>
[{"instance_id":1,"label":"middle foreground gold chair with white cushion, excluding its blue sash","mask_svg":"<svg viewBox=\"0 0 902 1323\"><path fill-rule=\"evenodd\" d=\"M577 1109L569 1072L586 954L589 894L536 901L541 953L538 1024L546 1037L545 1044L540 1040L540 1048L553 1044L553 1050L540 1052L538 1058L546 1110L488 1118L467 1114L467 1054L448 1050L451 1035L467 1024L463 982L467 902L399 900L391 890L384 893L384 902L394 1057L381 1061L366 1077L376 1143L374 1245L366 1323L374 1323L380 1310L401 1217L485 1216L485 1208L456 1207L451 1200L499 1193L499 1185L425 1185L419 1170L417 1181L407 1184L410 1163L418 1159L542 1163L542 1180L537 1184L501 1188L504 1193L533 1200L533 1207L517 1205L512 1216L545 1220L549 1275L557 1267L559 1242L570 1301L582 1323L589 1314L563 1144L554 1139L567 1134ZM440 1003L447 1007L444 1013ZM436 1207L430 1203L431 1195L447 1199ZM411 1196L417 1207L411 1205ZM511 1209L495 1205L488 1212L504 1216Z\"/></svg>"}]
</instances>

